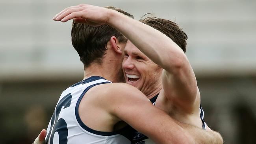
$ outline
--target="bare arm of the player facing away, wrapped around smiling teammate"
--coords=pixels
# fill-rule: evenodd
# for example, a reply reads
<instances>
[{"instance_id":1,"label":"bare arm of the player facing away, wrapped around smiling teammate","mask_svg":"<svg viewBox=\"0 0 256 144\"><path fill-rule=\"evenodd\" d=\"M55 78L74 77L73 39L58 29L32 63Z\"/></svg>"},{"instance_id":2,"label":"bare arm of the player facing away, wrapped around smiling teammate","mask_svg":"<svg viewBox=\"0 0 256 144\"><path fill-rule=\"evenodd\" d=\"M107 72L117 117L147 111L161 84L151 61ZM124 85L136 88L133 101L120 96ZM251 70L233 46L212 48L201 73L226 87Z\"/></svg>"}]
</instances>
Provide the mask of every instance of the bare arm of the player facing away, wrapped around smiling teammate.
<instances>
[{"instance_id":1,"label":"bare arm of the player facing away, wrapped around smiling teammate","mask_svg":"<svg viewBox=\"0 0 256 144\"><path fill-rule=\"evenodd\" d=\"M135 87L112 83L99 105L157 144L193 144L193 138L167 113L158 109ZM111 102L108 102L111 101ZM106 103L107 102L107 103Z\"/></svg>"}]
</instances>

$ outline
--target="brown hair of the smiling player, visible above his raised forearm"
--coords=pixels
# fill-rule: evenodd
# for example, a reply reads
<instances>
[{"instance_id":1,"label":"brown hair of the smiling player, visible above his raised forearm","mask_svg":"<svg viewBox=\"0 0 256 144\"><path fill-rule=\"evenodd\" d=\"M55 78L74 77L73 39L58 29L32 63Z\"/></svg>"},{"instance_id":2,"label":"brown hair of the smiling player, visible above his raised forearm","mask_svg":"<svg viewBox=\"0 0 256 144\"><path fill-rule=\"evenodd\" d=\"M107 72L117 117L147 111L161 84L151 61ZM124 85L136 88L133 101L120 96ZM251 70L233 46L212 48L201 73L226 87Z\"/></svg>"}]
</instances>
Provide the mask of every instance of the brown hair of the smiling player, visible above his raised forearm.
<instances>
[{"instance_id":1,"label":"brown hair of the smiling player, visible above his raised forearm","mask_svg":"<svg viewBox=\"0 0 256 144\"><path fill-rule=\"evenodd\" d=\"M142 17L140 21L167 35L167 37L171 38L178 46L180 46L184 53L186 52L187 35L182 31L178 24L171 20L158 17Z\"/></svg>"}]
</instances>

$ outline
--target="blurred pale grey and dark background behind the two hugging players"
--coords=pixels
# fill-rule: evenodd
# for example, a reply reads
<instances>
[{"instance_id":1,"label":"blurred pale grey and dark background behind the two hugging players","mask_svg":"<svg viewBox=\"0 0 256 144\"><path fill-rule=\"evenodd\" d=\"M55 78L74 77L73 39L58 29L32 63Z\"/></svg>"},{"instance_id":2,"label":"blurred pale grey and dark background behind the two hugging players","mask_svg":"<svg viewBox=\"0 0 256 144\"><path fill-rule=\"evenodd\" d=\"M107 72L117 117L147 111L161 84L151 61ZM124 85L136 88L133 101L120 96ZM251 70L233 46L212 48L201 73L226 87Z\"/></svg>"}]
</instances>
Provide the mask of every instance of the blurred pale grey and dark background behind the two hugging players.
<instances>
[{"instance_id":1,"label":"blurred pale grey and dark background behind the two hugging players","mask_svg":"<svg viewBox=\"0 0 256 144\"><path fill-rule=\"evenodd\" d=\"M206 123L225 144L256 143L255 0L1 0L0 144L32 143L61 92L83 79L72 22L52 20L80 3L178 23L188 35Z\"/></svg>"}]
</instances>

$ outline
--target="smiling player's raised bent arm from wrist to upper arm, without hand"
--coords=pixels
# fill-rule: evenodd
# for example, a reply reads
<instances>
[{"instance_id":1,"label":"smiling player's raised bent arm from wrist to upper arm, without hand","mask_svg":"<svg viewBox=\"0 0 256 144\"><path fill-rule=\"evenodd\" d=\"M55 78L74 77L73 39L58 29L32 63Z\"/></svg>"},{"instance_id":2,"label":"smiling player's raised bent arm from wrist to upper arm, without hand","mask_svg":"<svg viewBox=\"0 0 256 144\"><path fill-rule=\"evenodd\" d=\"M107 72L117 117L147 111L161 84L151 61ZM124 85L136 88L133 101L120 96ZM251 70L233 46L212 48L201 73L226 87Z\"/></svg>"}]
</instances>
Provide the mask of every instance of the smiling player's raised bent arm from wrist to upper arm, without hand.
<instances>
[{"instance_id":1,"label":"smiling player's raised bent arm from wrist to upper arm, without hand","mask_svg":"<svg viewBox=\"0 0 256 144\"><path fill-rule=\"evenodd\" d=\"M198 111L200 94L197 81L181 48L169 37L142 22L119 13L110 15L108 24L164 69L162 83L166 98L185 113Z\"/></svg>"}]
</instances>

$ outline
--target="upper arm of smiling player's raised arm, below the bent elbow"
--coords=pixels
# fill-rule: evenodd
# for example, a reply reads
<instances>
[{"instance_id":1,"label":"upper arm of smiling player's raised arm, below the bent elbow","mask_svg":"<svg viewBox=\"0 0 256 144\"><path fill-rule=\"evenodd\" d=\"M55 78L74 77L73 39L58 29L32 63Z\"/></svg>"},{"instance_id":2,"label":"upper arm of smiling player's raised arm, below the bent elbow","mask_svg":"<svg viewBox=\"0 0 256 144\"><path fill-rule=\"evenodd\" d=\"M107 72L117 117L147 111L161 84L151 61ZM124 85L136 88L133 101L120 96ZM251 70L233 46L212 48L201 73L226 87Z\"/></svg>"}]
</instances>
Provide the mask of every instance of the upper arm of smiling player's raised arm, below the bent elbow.
<instances>
[{"instance_id":1,"label":"upper arm of smiling player's raised arm, below the bent elbow","mask_svg":"<svg viewBox=\"0 0 256 144\"><path fill-rule=\"evenodd\" d=\"M166 98L178 109L191 113L198 110L200 94L195 74L189 62L187 63L172 73L163 70L162 83Z\"/></svg>"}]
</instances>

